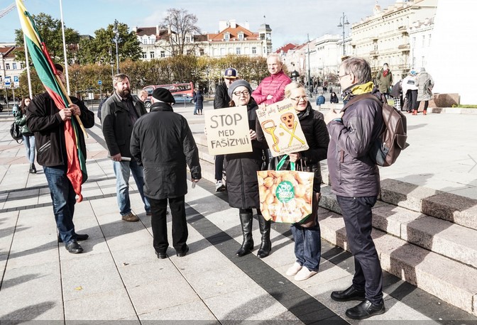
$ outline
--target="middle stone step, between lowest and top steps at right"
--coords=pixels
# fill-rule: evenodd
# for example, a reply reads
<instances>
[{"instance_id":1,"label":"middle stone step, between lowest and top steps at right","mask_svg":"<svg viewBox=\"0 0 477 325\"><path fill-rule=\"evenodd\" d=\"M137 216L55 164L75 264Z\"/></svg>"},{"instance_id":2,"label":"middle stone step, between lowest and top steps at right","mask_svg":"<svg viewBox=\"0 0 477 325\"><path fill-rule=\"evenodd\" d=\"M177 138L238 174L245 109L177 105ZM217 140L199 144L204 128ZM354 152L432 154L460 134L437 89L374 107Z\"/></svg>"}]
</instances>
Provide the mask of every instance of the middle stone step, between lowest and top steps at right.
<instances>
[{"instance_id":1,"label":"middle stone step, between lowest and top steps at right","mask_svg":"<svg viewBox=\"0 0 477 325\"><path fill-rule=\"evenodd\" d=\"M329 186L322 187L319 205L341 214ZM477 268L477 231L474 229L381 201L373 208L373 227Z\"/></svg>"}]
</instances>

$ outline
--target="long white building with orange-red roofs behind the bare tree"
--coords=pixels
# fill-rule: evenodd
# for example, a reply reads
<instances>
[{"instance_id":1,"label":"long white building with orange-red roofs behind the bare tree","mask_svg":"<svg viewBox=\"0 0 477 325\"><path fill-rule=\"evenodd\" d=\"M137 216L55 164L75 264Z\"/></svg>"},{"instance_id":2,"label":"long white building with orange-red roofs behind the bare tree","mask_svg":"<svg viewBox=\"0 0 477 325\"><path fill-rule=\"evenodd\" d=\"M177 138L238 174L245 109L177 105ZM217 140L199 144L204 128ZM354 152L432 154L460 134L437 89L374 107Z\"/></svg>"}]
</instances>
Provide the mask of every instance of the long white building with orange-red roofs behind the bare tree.
<instances>
[{"instance_id":1,"label":"long white building with orange-red roofs behind the bare tree","mask_svg":"<svg viewBox=\"0 0 477 325\"><path fill-rule=\"evenodd\" d=\"M170 38L177 38L170 28L134 27L143 60L152 60L173 55ZM219 21L217 33L185 35L186 54L209 57L224 57L226 55L248 55L266 57L272 52L272 30L263 23L258 32L250 31L248 23L239 25L235 20Z\"/></svg>"}]
</instances>

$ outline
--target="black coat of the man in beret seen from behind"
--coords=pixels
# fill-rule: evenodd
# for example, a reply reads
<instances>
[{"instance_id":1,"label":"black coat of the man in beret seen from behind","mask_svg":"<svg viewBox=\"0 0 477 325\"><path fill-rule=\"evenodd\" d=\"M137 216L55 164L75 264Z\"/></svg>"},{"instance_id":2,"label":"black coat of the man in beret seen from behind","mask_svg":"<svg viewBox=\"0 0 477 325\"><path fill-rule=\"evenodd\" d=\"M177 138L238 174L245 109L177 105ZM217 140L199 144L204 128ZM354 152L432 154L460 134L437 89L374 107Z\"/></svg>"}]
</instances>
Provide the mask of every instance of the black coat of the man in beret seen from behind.
<instances>
[{"instance_id":1,"label":"black coat of the man in beret seen from behind","mask_svg":"<svg viewBox=\"0 0 477 325\"><path fill-rule=\"evenodd\" d=\"M202 178L199 150L187 120L172 106L155 103L134 124L131 154L144 167L144 194L152 199L187 194L187 165L192 178Z\"/></svg>"}]
</instances>

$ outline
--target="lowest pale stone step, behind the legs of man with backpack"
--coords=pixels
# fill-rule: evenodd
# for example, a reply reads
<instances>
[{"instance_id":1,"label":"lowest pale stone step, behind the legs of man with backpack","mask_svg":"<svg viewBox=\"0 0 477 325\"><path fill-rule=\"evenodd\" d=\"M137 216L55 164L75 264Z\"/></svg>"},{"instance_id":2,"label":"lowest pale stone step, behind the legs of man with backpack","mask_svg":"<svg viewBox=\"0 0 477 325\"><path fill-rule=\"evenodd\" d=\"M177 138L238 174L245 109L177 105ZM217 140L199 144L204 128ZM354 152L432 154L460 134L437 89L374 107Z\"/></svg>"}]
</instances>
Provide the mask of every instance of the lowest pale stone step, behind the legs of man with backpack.
<instances>
[{"instance_id":1,"label":"lowest pale stone step, behind the legs of man with backpack","mask_svg":"<svg viewBox=\"0 0 477 325\"><path fill-rule=\"evenodd\" d=\"M322 238L348 249L341 215L320 208L319 225ZM372 236L383 270L477 316L476 268L408 243L376 228L373 229Z\"/></svg>"}]
</instances>

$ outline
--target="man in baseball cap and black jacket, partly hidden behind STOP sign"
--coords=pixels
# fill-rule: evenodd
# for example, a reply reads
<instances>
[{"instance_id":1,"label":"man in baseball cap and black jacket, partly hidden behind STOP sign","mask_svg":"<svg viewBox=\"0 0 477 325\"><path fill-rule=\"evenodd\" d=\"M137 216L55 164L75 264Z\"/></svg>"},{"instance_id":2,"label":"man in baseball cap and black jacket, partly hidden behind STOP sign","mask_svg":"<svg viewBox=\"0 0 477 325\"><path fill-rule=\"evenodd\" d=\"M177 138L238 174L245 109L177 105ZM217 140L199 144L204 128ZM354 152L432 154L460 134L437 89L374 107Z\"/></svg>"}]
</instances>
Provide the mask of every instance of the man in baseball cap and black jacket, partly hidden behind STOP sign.
<instances>
[{"instance_id":1,"label":"man in baseball cap and black jacket, partly hidden behind STOP sign","mask_svg":"<svg viewBox=\"0 0 477 325\"><path fill-rule=\"evenodd\" d=\"M224 72L224 82L215 89L214 109L225 109L230 107L229 87L237 79L237 70L229 67ZM215 156L215 190L216 192L225 191L225 185L222 182L222 173L224 171L224 155Z\"/></svg>"}]
</instances>

